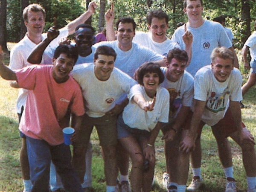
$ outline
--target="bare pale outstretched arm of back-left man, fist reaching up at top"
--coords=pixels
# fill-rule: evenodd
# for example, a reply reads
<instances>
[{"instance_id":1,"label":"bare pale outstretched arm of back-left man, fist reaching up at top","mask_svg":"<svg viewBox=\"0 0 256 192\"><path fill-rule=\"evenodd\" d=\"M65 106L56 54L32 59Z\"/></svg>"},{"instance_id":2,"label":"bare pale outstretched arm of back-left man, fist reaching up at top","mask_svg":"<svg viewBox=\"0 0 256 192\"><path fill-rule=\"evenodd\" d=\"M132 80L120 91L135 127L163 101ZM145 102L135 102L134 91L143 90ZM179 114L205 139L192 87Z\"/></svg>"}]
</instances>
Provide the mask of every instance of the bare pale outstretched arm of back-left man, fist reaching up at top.
<instances>
[{"instance_id":1,"label":"bare pale outstretched arm of back-left man, fist reaching up at top","mask_svg":"<svg viewBox=\"0 0 256 192\"><path fill-rule=\"evenodd\" d=\"M84 12L82 15L77 17L75 20L71 21L67 24L68 29L68 35L72 35L75 32L76 26L84 23L93 13L95 12L95 9L97 8L97 5L95 2L90 2L88 5L88 10Z\"/></svg>"}]
</instances>

